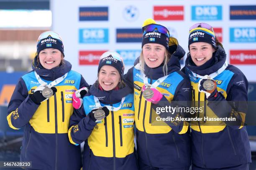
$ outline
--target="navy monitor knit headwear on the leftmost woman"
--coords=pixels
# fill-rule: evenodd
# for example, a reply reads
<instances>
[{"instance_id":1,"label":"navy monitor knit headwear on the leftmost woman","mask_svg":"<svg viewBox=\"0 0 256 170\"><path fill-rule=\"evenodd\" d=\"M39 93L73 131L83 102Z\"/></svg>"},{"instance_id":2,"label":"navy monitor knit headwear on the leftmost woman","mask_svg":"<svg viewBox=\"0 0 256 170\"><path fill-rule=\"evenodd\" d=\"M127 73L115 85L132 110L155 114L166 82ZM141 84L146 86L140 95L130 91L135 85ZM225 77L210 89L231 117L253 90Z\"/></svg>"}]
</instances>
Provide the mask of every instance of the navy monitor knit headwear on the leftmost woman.
<instances>
[{"instance_id":1,"label":"navy monitor knit headwear on the leftmost woman","mask_svg":"<svg viewBox=\"0 0 256 170\"><path fill-rule=\"evenodd\" d=\"M44 50L46 48L55 48L60 50L60 52L64 55L64 46L62 41L59 39L53 38L51 36L46 37L42 40L39 40L36 47L37 47L37 51L36 51L37 54L39 54L41 50Z\"/></svg>"}]
</instances>

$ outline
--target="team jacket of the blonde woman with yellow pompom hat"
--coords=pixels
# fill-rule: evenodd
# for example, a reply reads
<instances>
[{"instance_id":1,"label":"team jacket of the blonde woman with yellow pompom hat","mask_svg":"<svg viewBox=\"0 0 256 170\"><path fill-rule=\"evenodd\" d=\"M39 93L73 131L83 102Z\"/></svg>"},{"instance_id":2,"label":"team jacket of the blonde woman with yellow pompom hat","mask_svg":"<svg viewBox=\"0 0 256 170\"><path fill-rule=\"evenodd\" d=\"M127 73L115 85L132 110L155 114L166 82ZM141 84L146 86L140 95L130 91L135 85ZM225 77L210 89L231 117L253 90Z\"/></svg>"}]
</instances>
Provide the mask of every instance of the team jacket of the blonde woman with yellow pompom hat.
<instances>
[{"instance_id":1,"label":"team jacket of the blonde woman with yellow pompom hat","mask_svg":"<svg viewBox=\"0 0 256 170\"><path fill-rule=\"evenodd\" d=\"M168 67L168 77L157 87L164 96L161 102L165 107L170 101L191 100L189 79L180 70L179 58L185 54L181 46L171 56ZM138 63L140 64L140 63ZM141 70L138 65L128 70L125 81L134 90L135 122L138 161L156 168L182 168L191 164L190 139L187 122L156 121L156 106L142 97L144 85ZM145 75L149 83L154 83L163 77L163 66L149 68L145 65ZM168 102L166 102L168 101ZM173 115L174 117L177 115ZM161 125L158 125L161 124ZM167 124L166 124L167 123Z\"/></svg>"}]
</instances>

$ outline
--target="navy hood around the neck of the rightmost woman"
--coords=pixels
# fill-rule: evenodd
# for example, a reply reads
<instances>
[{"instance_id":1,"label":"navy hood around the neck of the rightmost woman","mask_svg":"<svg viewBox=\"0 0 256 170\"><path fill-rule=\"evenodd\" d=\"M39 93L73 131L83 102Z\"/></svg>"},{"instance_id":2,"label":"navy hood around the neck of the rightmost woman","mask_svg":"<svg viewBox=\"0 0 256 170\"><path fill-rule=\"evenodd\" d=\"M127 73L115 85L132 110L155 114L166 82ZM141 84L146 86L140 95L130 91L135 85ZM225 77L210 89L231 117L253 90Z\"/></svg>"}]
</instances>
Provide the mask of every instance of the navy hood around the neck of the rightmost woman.
<instances>
[{"instance_id":1,"label":"navy hood around the neck of the rightmost woman","mask_svg":"<svg viewBox=\"0 0 256 170\"><path fill-rule=\"evenodd\" d=\"M185 61L185 67L187 67L192 72L195 72L198 75L210 75L213 72L219 70L226 61L226 53L223 47L220 45L217 46L217 50L213 53L212 59L205 62L205 64L201 66L196 66L192 61L190 53L187 55L187 59Z\"/></svg>"}]
</instances>

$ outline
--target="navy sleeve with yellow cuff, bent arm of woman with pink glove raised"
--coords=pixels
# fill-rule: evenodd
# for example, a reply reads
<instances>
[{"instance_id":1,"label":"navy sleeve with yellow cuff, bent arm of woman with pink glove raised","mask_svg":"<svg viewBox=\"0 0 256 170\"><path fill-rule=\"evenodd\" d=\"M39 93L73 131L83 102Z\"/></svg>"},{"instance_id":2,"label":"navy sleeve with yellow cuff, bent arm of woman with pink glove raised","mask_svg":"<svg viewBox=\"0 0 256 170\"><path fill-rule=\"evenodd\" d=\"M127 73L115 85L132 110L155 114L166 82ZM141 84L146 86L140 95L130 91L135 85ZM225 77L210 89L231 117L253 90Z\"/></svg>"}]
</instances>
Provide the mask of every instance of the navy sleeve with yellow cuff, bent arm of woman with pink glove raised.
<instances>
[{"instance_id":1,"label":"navy sleeve with yellow cuff, bent arm of woman with pink glove raised","mask_svg":"<svg viewBox=\"0 0 256 170\"><path fill-rule=\"evenodd\" d=\"M192 100L192 91L191 91L191 85L189 79L186 77L184 78L179 85L177 86L174 94L174 98L171 102L169 102L166 97L162 97L161 101L157 104L153 104L154 110L157 109L157 107L165 107L165 108L186 108L190 107L190 103ZM165 121L167 125L169 125L174 132L179 134L184 134L187 132L189 127L189 122L186 121L179 121L180 119L177 119L177 117L187 117L184 112L182 112L183 109L179 110L167 110L165 109L164 112L159 114L160 117L166 118L166 117L172 117L173 121Z\"/></svg>"}]
</instances>

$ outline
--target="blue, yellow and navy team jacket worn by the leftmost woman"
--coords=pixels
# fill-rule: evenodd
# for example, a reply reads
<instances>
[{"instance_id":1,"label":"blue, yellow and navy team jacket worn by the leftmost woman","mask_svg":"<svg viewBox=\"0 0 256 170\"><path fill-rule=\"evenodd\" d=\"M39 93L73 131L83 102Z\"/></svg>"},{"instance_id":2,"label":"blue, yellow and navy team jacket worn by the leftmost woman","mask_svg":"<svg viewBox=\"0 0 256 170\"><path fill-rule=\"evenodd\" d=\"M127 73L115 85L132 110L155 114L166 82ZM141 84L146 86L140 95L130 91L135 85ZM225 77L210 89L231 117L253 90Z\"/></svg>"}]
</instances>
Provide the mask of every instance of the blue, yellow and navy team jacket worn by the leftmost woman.
<instances>
[{"instance_id":1,"label":"blue, yellow and navy team jacket worn by the leftmost woman","mask_svg":"<svg viewBox=\"0 0 256 170\"><path fill-rule=\"evenodd\" d=\"M34 63L36 58L34 60ZM8 124L13 129L24 128L21 161L32 161L37 170L80 170L80 147L69 143L69 118L73 113L72 93L88 87L82 75L71 70L65 61L51 70L32 65L33 71L23 75L15 87L8 105ZM41 68L41 69L40 69ZM34 70L49 83L68 72L56 85L57 92L49 100L35 104L29 94L39 86Z\"/></svg>"}]
</instances>

